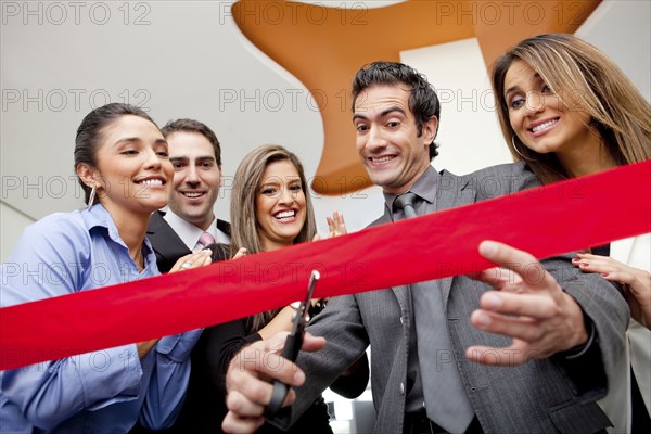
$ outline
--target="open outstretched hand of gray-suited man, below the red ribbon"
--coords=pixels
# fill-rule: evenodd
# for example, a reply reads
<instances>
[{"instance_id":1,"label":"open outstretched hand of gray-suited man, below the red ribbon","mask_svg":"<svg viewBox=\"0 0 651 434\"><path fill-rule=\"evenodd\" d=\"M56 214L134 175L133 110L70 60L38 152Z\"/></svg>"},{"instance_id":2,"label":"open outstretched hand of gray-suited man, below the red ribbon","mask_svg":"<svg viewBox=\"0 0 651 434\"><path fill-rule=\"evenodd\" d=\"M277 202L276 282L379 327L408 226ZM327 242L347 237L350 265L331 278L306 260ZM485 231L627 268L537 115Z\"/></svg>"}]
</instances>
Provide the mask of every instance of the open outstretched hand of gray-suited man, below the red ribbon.
<instances>
[{"instance_id":1,"label":"open outstretched hand of gray-suited man, below the red ribbon","mask_svg":"<svg viewBox=\"0 0 651 434\"><path fill-rule=\"evenodd\" d=\"M482 242L480 254L501 268L471 276L495 290L482 295L471 322L513 342L506 348L471 346L465 350L469 360L514 366L587 342L580 307L534 256L494 241Z\"/></svg>"}]
</instances>

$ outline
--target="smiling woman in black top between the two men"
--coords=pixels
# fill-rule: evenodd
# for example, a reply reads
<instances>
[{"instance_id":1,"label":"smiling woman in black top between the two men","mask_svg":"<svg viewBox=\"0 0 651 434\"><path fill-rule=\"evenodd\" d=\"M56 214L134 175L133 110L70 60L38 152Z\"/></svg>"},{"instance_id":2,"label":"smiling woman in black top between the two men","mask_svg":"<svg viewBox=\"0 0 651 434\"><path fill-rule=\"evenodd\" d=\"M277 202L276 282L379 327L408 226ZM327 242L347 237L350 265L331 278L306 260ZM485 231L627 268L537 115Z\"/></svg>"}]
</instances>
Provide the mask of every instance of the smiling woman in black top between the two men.
<instances>
[{"instance_id":1,"label":"smiling woman in black top between the two men","mask_svg":"<svg viewBox=\"0 0 651 434\"><path fill-rule=\"evenodd\" d=\"M343 217L339 213L328 218L328 225L330 237L346 233ZM314 209L301 162L282 146L260 146L245 156L238 167L231 194L231 245L215 245L213 261L311 241L316 232ZM315 302L310 315L316 315L323 305L324 301ZM227 413L226 371L232 357L248 343L268 339L280 331L290 331L293 312L293 308L286 306L204 331L192 353L188 396L175 424L175 432L221 432L221 421ZM368 378L368 360L362 357L331 388L353 398L363 392ZM257 432L282 431L265 424ZM328 407L322 397L314 403L290 432L332 433Z\"/></svg>"}]
</instances>

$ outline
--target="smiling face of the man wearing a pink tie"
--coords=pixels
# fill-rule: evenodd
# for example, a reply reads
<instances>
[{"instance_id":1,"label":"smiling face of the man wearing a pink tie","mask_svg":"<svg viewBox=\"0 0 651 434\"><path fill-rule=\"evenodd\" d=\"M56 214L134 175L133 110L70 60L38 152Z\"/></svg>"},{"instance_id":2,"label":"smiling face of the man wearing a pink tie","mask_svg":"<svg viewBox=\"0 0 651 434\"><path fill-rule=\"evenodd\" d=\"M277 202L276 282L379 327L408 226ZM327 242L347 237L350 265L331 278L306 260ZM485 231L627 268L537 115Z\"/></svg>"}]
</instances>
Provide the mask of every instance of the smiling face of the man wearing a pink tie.
<instances>
[{"instance_id":1,"label":"smiling face of the man wearing a pink tie","mask_svg":"<svg viewBox=\"0 0 651 434\"><path fill-rule=\"evenodd\" d=\"M169 209L206 230L213 222L213 206L221 187L221 169L208 139L195 131L175 131L167 136L169 161L174 165L174 188Z\"/></svg>"}]
</instances>

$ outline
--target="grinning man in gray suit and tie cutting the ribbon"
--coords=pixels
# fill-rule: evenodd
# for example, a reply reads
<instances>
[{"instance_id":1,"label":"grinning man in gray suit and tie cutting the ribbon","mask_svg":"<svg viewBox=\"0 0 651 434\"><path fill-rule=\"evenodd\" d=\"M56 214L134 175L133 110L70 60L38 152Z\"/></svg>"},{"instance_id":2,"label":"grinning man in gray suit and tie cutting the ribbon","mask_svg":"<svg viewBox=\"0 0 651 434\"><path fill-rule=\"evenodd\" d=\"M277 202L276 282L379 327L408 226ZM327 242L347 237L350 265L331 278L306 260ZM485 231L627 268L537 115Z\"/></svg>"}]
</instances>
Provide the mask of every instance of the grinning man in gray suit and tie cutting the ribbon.
<instances>
[{"instance_id":1,"label":"grinning man in gray suit and tie cutting the ribbon","mask_svg":"<svg viewBox=\"0 0 651 434\"><path fill-rule=\"evenodd\" d=\"M353 98L357 151L385 196L373 225L408 217L408 192L416 213L426 214L538 186L523 164L462 177L434 170L438 100L407 65L366 66ZM323 349L301 353L302 370L276 358L284 335L244 348L227 376L225 430L261 423L268 378L301 386L276 422L295 420L370 345L378 433L603 431L610 421L595 400L624 348L624 298L599 276L575 270L569 257L540 265L500 243L478 248L503 268L333 298L308 327L326 340L306 336L303 347Z\"/></svg>"}]
</instances>

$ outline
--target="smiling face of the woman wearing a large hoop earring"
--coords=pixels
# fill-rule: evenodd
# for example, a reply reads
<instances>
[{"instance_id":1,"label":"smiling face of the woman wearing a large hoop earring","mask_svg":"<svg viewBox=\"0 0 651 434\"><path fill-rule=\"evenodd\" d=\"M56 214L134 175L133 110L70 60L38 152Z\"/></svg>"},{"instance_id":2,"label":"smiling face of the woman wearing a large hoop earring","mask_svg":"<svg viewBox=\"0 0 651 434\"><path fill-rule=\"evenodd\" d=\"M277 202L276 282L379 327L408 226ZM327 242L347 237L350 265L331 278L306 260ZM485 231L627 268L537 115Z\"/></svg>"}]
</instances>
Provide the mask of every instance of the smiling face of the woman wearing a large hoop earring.
<instances>
[{"instance_id":1,"label":"smiling face of the woman wearing a large hoop earring","mask_svg":"<svg viewBox=\"0 0 651 434\"><path fill-rule=\"evenodd\" d=\"M566 110L558 94L525 62L515 60L505 76L505 99L511 128L522 143L541 154L598 152L600 140L590 117Z\"/></svg>"}]
</instances>

